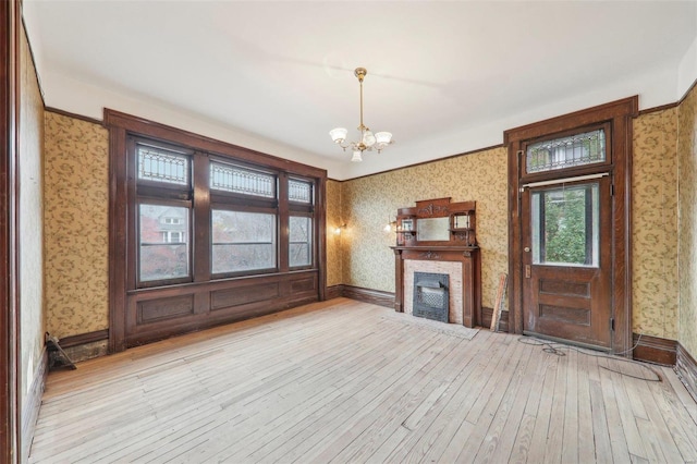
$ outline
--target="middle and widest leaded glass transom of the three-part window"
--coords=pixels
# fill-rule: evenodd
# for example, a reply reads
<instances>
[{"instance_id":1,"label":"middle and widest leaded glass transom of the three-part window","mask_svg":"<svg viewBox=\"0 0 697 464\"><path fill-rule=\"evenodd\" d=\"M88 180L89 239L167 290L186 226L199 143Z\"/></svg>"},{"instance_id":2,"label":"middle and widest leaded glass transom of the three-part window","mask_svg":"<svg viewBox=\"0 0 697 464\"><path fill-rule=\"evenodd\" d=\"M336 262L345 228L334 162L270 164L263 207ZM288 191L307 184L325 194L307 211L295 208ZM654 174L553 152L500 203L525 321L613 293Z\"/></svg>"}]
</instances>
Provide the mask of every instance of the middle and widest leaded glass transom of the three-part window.
<instances>
[{"instance_id":1,"label":"middle and widest leaded glass transom of the three-part window","mask_svg":"<svg viewBox=\"0 0 697 464\"><path fill-rule=\"evenodd\" d=\"M210 163L210 187L219 191L273 198L276 178L236 166Z\"/></svg>"}]
</instances>

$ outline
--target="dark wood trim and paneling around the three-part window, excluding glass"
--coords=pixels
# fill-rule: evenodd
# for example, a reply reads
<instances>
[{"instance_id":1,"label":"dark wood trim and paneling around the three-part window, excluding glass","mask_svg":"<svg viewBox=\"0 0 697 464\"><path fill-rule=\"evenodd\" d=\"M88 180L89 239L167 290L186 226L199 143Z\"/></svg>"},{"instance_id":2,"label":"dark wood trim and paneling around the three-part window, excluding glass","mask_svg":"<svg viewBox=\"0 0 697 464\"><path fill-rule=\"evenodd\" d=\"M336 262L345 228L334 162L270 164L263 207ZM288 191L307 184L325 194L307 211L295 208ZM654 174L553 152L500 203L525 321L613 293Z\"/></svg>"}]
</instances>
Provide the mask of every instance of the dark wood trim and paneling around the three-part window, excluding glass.
<instances>
[{"instance_id":1,"label":"dark wood trim and paneling around the three-part window, excluding glass","mask_svg":"<svg viewBox=\"0 0 697 464\"><path fill-rule=\"evenodd\" d=\"M109 130L110 141L110 352L310 301L325 300L327 291L325 199L327 172L325 170L110 109L105 109L103 120L105 126ZM133 137L161 143L163 146L184 148L193 152L193 200L171 199L171 202L191 202L193 221L201 221L201 218L209 215L213 205L234 210L274 211L280 222L277 224L279 231L277 268L258 273L211 276L210 228L194 224L191 228L191 236L194 240L191 258L193 279L159 286L138 285L134 272L137 236L135 228L129 224L133 223L136 202L144 196L139 196L136 192L135 169L131 166L133 161L127 155L130 139ZM209 159L273 173L278 179L278 200L276 198L255 199L245 195L210 191L208 188ZM314 203L303 205L289 202L288 179L311 182ZM154 188L157 187L154 186ZM289 267L289 215L313 217L313 266ZM266 294L269 296L265 296ZM173 315L162 314L163 307L168 310L173 308ZM144 308L149 308L150 313L146 315ZM149 326L142 323L144 321Z\"/></svg>"}]
</instances>

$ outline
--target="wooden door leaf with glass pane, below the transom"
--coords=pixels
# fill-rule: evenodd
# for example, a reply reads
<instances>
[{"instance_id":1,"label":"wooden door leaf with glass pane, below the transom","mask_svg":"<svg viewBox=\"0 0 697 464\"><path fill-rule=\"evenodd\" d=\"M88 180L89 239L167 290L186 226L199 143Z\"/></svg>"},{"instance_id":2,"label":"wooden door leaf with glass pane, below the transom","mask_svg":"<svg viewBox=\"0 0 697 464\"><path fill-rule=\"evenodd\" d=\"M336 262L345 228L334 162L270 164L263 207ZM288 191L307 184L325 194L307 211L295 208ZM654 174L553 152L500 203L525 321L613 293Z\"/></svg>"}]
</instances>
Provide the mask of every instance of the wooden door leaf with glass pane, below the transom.
<instances>
[{"instance_id":1,"label":"wooden door leaf with glass pane, below the transom","mask_svg":"<svg viewBox=\"0 0 697 464\"><path fill-rule=\"evenodd\" d=\"M610 176L522 192L523 333L612 345Z\"/></svg>"}]
</instances>

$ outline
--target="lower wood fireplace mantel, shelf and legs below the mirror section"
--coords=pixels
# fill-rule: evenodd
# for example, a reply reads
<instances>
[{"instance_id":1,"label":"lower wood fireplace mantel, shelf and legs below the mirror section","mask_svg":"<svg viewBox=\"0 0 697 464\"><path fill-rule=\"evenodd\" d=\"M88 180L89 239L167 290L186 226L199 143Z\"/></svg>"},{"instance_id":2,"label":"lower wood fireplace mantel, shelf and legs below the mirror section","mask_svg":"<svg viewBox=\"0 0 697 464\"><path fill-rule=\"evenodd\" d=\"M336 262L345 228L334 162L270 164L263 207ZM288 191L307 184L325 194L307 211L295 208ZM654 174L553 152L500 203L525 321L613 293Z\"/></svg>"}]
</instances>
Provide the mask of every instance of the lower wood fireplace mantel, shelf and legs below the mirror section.
<instances>
[{"instance_id":1,"label":"lower wood fireplace mantel, shelf and legs below the mirror section","mask_svg":"<svg viewBox=\"0 0 697 464\"><path fill-rule=\"evenodd\" d=\"M481 266L478 246L391 246L394 252L394 310L404 313L404 261L455 261L462 265L462 320L465 327L481 325Z\"/></svg>"}]
</instances>

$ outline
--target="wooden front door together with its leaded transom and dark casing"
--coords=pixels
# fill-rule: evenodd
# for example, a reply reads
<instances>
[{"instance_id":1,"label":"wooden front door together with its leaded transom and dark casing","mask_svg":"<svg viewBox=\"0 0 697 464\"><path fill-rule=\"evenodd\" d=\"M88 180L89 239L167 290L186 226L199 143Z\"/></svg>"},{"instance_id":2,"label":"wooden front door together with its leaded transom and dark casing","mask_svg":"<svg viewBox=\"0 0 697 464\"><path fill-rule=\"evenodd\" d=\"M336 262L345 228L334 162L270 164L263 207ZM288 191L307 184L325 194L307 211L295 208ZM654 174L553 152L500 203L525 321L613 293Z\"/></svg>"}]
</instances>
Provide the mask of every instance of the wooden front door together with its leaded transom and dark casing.
<instances>
[{"instance_id":1,"label":"wooden front door together with its leaded transom and dark casing","mask_svg":"<svg viewBox=\"0 0 697 464\"><path fill-rule=\"evenodd\" d=\"M632 120L625 98L505 131L509 328L632 353Z\"/></svg>"}]
</instances>

